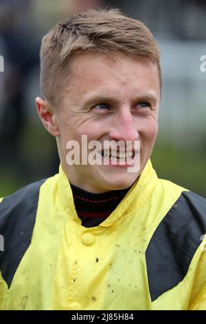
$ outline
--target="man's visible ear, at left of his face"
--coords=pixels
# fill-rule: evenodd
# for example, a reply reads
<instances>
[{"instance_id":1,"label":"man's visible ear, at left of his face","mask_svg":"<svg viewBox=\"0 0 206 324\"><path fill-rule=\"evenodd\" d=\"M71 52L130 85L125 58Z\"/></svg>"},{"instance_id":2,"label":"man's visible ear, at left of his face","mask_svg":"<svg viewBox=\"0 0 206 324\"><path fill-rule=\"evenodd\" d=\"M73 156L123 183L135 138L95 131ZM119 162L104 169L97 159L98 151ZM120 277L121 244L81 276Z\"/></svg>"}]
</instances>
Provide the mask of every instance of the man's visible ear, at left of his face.
<instances>
[{"instance_id":1,"label":"man's visible ear, at left of his face","mask_svg":"<svg viewBox=\"0 0 206 324\"><path fill-rule=\"evenodd\" d=\"M36 98L36 107L38 116L41 119L41 122L45 126L47 132L52 134L55 137L60 136L60 131L58 129L58 123L54 112L52 111L51 106L45 100L40 97Z\"/></svg>"}]
</instances>

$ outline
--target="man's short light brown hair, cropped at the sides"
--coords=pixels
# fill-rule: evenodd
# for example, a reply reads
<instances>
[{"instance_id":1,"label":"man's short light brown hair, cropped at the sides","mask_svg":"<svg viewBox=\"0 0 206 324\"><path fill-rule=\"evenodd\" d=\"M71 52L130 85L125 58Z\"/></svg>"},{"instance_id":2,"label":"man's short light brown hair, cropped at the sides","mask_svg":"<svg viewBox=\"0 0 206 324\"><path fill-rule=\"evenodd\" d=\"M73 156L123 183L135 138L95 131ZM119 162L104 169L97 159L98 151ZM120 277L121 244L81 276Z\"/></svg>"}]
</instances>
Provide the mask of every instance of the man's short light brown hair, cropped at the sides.
<instances>
[{"instance_id":1,"label":"man's short light brown hair, cropped at the sides","mask_svg":"<svg viewBox=\"0 0 206 324\"><path fill-rule=\"evenodd\" d=\"M157 64L161 85L160 52L150 30L117 9L88 10L58 23L41 45L41 94L55 105L64 85L65 68L75 52L135 55Z\"/></svg>"}]
</instances>

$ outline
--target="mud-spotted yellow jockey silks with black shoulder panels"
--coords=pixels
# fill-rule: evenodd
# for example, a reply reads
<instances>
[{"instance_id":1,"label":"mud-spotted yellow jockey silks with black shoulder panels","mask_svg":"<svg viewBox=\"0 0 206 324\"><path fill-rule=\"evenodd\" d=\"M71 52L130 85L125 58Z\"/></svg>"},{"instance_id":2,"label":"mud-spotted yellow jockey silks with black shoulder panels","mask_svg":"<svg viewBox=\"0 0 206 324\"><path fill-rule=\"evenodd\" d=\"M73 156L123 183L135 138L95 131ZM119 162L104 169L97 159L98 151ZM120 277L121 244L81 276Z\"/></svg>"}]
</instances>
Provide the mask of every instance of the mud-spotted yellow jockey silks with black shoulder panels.
<instances>
[{"instance_id":1,"label":"mud-spotted yellow jockey silks with black shoulder panels","mask_svg":"<svg viewBox=\"0 0 206 324\"><path fill-rule=\"evenodd\" d=\"M61 167L0 201L1 310L206 310L206 200L150 161L97 227Z\"/></svg>"}]
</instances>

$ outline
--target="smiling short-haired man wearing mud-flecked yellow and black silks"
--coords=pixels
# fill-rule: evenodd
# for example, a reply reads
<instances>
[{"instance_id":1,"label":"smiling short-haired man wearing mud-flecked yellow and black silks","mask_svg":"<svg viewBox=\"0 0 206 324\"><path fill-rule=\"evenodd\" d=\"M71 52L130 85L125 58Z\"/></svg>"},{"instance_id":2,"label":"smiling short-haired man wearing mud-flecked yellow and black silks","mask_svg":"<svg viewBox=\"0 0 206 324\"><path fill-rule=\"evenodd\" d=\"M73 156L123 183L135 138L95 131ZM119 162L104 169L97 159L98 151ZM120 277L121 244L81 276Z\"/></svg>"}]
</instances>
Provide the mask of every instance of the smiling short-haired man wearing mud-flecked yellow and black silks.
<instances>
[{"instance_id":1,"label":"smiling short-haired man wearing mud-flecked yellow and black silks","mask_svg":"<svg viewBox=\"0 0 206 324\"><path fill-rule=\"evenodd\" d=\"M206 309L206 201L150 162L159 57L118 10L44 37L36 104L60 171L1 200L1 309Z\"/></svg>"}]
</instances>

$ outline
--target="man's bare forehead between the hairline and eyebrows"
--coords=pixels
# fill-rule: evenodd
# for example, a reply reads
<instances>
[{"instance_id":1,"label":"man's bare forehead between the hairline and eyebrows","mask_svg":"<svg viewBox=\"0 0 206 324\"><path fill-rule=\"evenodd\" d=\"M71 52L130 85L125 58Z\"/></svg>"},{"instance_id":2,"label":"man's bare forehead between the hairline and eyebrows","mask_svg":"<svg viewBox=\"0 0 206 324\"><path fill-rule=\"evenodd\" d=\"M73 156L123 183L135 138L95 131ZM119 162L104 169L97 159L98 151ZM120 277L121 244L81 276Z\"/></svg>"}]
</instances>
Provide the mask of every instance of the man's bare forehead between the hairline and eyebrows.
<instances>
[{"instance_id":1,"label":"man's bare forehead between the hairline and eyebrows","mask_svg":"<svg viewBox=\"0 0 206 324\"><path fill-rule=\"evenodd\" d=\"M98 53L75 54L69 63L69 73L64 94L78 92L79 96L87 94L113 92L119 95L128 92L153 92L159 96L159 72L157 65L141 57ZM65 96L64 96L65 97Z\"/></svg>"}]
</instances>

